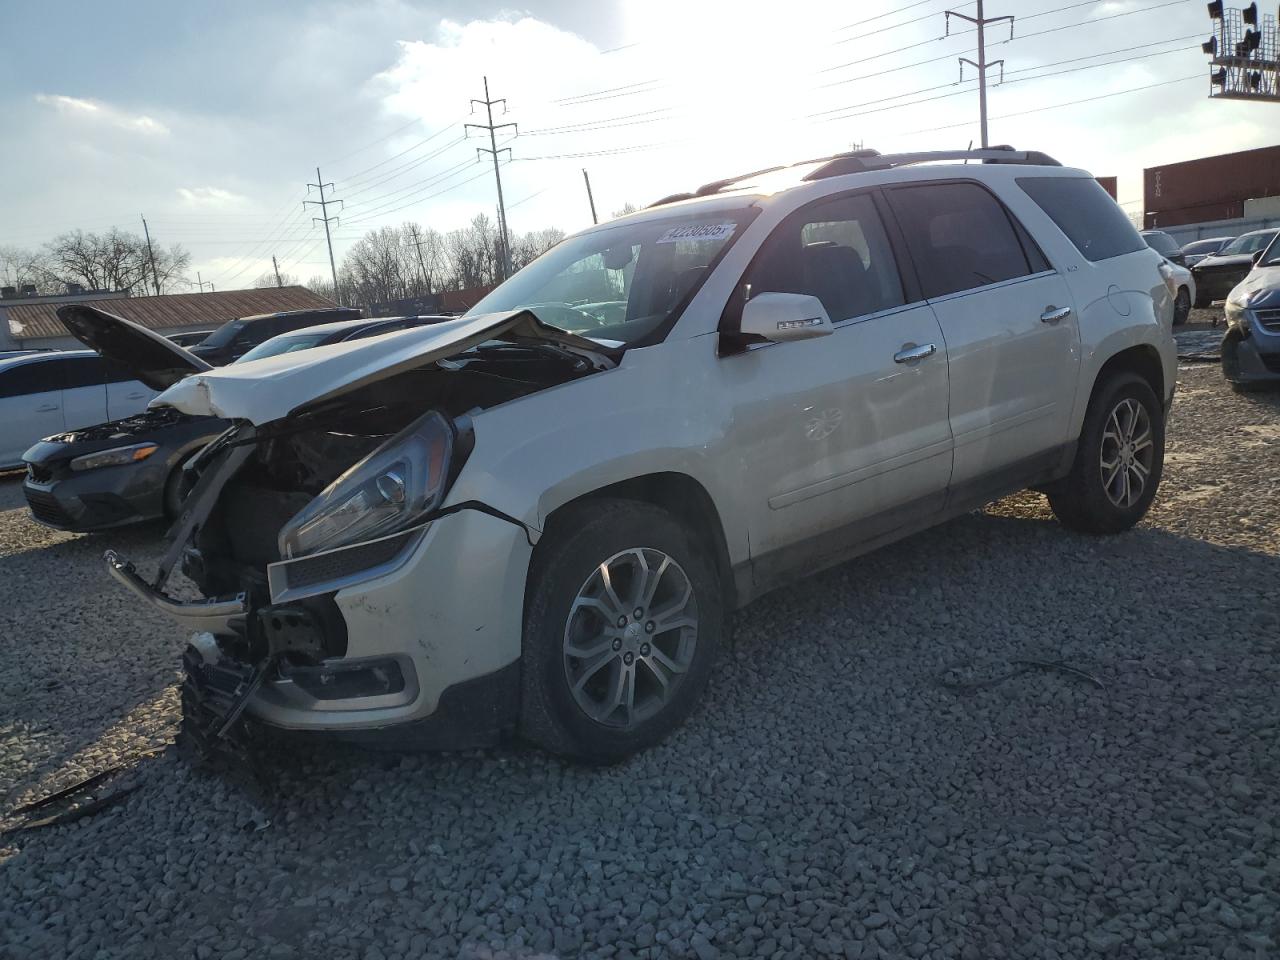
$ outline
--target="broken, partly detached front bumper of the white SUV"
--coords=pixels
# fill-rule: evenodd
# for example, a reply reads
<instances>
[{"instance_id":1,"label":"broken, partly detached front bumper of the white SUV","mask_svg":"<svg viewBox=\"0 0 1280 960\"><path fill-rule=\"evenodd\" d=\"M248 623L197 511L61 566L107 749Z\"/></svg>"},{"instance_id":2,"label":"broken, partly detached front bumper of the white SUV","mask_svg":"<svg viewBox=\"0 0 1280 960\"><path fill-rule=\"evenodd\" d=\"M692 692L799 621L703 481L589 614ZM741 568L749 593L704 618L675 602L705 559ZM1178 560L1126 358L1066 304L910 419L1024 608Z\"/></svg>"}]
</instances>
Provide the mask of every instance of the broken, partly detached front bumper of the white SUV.
<instances>
[{"instance_id":1,"label":"broken, partly detached front bumper of the white SUV","mask_svg":"<svg viewBox=\"0 0 1280 960\"><path fill-rule=\"evenodd\" d=\"M335 628L346 632L340 657L303 666L289 655L287 625L262 627L271 637L264 660L271 662L246 700L250 719L283 730L433 746L439 745L443 728L453 731L444 737L449 742L474 745L492 742L518 709L531 553L522 526L461 509L433 520L403 556L384 558L365 577L339 564L340 579L316 580L314 566L324 554L274 564L275 603L269 611L265 604L255 609L244 595L179 603L152 589L114 554L108 554L108 568L156 609L209 635L210 640L195 644L201 660L228 675L260 666L227 650L236 645L228 641L242 641L256 628L255 618L264 611L265 620L275 623L287 621L296 605L332 602L340 617ZM298 577L288 576L288 570L276 570L303 563L312 564L306 590L298 590ZM334 582L340 585L334 588ZM440 713L433 721L444 708L448 716ZM461 723L466 730L457 730L458 717L471 718Z\"/></svg>"}]
</instances>

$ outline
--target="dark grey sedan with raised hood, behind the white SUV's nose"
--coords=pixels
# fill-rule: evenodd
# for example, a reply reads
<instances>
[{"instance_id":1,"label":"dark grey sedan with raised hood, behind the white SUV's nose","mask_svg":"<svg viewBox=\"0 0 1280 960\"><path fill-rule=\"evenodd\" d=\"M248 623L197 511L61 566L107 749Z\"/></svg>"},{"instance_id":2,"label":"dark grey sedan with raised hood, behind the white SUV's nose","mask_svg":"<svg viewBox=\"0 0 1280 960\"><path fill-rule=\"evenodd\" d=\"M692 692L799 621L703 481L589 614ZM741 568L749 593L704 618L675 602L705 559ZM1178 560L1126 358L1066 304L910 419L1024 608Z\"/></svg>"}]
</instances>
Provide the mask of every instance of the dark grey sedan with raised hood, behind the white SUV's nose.
<instances>
[{"instance_id":1,"label":"dark grey sedan with raised hood, behind the white SUV's nose","mask_svg":"<svg viewBox=\"0 0 1280 960\"><path fill-rule=\"evenodd\" d=\"M73 311L72 307L63 310ZM61 311L59 311L61 316ZM96 335L92 315L63 317L68 329L109 358L129 355L136 372L156 390L210 366L177 344L134 328L136 342ZM116 317L118 319L118 317ZM323 347L329 343L376 337L410 326L449 320L444 316L346 320L307 326L274 337L242 356L244 364L262 357ZM134 338L129 338L134 340ZM155 349L156 340L165 344ZM169 356L166 356L166 353ZM136 416L99 424L41 440L23 456L27 477L23 493L32 516L46 526L86 532L177 516L186 493L182 467L230 424L218 417L195 417L172 407L156 407Z\"/></svg>"}]
</instances>

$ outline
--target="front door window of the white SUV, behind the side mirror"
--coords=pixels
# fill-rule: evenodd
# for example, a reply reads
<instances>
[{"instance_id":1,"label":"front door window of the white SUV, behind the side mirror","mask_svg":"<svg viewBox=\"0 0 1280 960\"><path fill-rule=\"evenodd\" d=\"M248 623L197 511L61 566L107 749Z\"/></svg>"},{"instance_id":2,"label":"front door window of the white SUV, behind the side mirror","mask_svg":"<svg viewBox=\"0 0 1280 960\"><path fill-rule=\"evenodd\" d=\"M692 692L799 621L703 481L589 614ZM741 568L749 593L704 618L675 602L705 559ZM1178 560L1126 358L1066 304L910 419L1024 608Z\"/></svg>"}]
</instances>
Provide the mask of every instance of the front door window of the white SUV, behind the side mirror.
<instances>
[{"instance_id":1,"label":"front door window of the white SUV, behind the side mirror","mask_svg":"<svg viewBox=\"0 0 1280 960\"><path fill-rule=\"evenodd\" d=\"M749 294L806 293L832 323L905 302L876 202L867 193L808 206L782 221L748 274Z\"/></svg>"}]
</instances>

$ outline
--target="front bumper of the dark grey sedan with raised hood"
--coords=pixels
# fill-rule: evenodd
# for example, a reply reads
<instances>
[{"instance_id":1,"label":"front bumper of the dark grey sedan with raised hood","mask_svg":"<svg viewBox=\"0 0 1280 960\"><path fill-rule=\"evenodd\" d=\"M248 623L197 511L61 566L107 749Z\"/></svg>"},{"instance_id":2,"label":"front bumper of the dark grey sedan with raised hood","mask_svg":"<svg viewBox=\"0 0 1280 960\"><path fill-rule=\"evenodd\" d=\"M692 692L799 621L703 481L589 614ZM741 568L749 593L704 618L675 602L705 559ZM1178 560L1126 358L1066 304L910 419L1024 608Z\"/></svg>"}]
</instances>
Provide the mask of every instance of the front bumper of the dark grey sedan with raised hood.
<instances>
[{"instance_id":1,"label":"front bumper of the dark grey sedan with raised hood","mask_svg":"<svg viewBox=\"0 0 1280 960\"><path fill-rule=\"evenodd\" d=\"M32 474L28 463L22 492L32 516L45 526L90 532L164 516L168 472L163 462L100 467L44 481Z\"/></svg>"}]
</instances>

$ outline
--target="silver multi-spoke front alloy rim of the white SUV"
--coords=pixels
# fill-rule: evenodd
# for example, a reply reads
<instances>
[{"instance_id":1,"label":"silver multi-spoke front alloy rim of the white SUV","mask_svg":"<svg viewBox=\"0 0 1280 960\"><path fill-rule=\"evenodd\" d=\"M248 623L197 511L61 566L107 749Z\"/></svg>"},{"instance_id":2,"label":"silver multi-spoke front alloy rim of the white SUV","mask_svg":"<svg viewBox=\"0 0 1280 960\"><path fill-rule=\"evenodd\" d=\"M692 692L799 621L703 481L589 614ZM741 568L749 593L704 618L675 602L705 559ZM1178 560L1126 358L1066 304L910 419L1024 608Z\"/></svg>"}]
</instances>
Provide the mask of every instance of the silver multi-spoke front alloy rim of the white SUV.
<instances>
[{"instance_id":1,"label":"silver multi-spoke front alloy rim of the white SUV","mask_svg":"<svg viewBox=\"0 0 1280 960\"><path fill-rule=\"evenodd\" d=\"M591 719L630 730L669 703L698 645L698 598L662 550L613 554L588 576L564 623L564 677Z\"/></svg>"}]
</instances>

